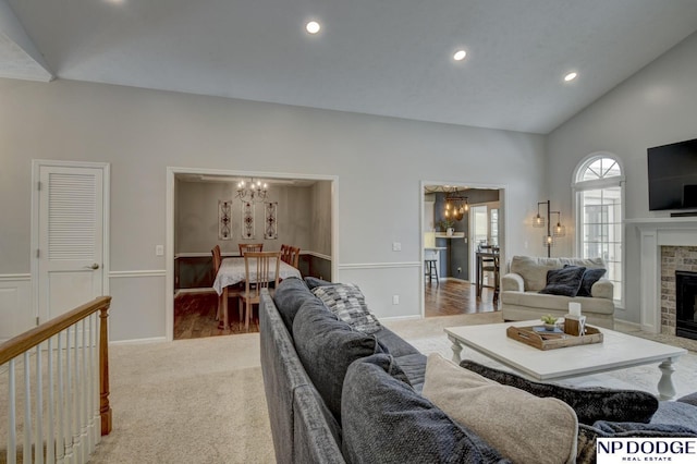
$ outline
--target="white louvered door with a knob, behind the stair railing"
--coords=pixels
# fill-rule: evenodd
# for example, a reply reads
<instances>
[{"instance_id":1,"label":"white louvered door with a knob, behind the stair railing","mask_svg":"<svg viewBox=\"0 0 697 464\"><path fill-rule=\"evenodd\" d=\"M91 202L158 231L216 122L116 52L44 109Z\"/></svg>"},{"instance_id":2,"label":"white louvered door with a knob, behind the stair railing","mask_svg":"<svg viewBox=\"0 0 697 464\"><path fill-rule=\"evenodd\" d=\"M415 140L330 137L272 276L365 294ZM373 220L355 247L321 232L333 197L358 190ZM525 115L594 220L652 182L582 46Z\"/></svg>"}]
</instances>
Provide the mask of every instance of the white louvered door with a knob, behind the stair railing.
<instances>
[{"instance_id":1,"label":"white louvered door with a knob, behind the stair railing","mask_svg":"<svg viewBox=\"0 0 697 464\"><path fill-rule=\"evenodd\" d=\"M103 170L39 168L38 316L103 294Z\"/></svg>"}]
</instances>

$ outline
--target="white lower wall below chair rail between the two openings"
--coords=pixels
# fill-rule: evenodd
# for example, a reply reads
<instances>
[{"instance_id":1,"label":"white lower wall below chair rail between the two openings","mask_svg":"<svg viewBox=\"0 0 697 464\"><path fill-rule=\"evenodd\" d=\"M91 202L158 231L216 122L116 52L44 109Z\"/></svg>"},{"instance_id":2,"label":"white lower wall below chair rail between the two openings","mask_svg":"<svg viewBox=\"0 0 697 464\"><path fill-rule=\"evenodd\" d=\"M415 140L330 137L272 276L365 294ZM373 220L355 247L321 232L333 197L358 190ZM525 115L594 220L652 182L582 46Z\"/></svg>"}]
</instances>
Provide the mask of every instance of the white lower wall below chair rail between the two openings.
<instances>
[{"instance_id":1,"label":"white lower wall below chair rail between the two openings","mask_svg":"<svg viewBox=\"0 0 697 464\"><path fill-rule=\"evenodd\" d=\"M335 282L352 282L366 296L368 308L379 318L420 317L421 262L371 262L339 265ZM393 304L393 297L399 304Z\"/></svg>"}]
</instances>

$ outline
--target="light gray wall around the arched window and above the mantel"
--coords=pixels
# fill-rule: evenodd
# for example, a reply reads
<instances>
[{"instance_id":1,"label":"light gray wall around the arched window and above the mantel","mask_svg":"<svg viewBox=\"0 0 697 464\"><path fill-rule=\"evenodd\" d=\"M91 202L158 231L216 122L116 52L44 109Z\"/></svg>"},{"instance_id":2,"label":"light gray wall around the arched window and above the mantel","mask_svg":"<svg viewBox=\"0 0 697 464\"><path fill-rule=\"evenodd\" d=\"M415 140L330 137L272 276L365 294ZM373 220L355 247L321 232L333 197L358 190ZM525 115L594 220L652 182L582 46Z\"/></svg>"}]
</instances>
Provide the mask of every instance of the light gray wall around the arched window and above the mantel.
<instances>
[{"instance_id":1,"label":"light gray wall around the arched window and above the mantel","mask_svg":"<svg viewBox=\"0 0 697 464\"><path fill-rule=\"evenodd\" d=\"M667 217L667 212L648 210L646 149L696 137L697 34L693 34L549 135L550 196L560 203L568 218L573 170L586 156L609 151L621 159L626 174L625 217ZM568 231L573 232L573 229ZM626 303L616 317L638 322L636 229L627 227L625 237ZM571 255L573 241L566 246L560 253Z\"/></svg>"}]
</instances>

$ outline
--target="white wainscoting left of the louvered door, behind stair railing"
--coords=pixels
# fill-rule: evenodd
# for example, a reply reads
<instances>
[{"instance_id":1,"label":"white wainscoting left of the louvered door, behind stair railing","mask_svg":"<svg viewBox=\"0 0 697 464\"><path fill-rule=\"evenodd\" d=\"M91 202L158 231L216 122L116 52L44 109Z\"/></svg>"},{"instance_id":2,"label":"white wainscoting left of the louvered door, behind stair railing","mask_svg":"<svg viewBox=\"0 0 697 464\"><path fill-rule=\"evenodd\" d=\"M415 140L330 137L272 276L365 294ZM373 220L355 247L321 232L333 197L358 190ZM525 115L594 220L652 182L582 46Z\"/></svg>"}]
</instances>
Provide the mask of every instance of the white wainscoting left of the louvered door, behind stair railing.
<instances>
[{"instance_id":1,"label":"white wainscoting left of the louvered door, behind stair railing","mask_svg":"<svg viewBox=\"0 0 697 464\"><path fill-rule=\"evenodd\" d=\"M29 274L0 276L0 342L36 326Z\"/></svg>"}]
</instances>

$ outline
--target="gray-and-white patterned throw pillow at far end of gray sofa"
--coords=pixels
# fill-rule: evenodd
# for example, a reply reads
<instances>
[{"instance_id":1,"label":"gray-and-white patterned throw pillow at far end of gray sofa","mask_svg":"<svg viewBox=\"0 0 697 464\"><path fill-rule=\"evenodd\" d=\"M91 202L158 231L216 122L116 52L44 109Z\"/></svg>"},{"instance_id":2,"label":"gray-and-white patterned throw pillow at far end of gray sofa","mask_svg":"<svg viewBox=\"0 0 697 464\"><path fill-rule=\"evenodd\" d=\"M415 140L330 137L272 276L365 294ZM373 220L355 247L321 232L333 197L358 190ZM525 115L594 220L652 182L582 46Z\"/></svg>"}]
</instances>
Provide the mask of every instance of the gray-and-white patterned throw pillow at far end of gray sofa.
<instances>
[{"instance_id":1,"label":"gray-and-white patterned throw pillow at far end of gray sofa","mask_svg":"<svg viewBox=\"0 0 697 464\"><path fill-rule=\"evenodd\" d=\"M366 298L358 285L353 283L335 283L333 285L320 285L311 290L315 296L339 317L354 329L374 333L380 330L378 319L368 310Z\"/></svg>"}]
</instances>

